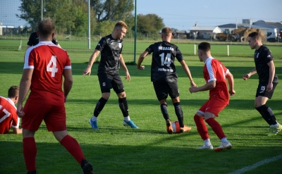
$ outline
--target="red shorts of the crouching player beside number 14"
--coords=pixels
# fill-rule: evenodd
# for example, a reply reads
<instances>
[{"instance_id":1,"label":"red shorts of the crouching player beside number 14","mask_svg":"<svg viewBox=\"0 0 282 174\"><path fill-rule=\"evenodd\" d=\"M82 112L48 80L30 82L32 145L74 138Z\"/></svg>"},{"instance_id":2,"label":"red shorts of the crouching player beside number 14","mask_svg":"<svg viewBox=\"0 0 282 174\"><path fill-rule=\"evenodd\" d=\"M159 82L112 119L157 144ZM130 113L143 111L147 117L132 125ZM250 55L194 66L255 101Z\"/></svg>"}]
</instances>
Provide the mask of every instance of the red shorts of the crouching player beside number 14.
<instances>
[{"instance_id":1,"label":"red shorts of the crouching player beside number 14","mask_svg":"<svg viewBox=\"0 0 282 174\"><path fill-rule=\"evenodd\" d=\"M199 111L204 114L205 112L214 113L217 117L219 116L219 112L223 110L228 105L229 101L226 99L222 99L214 94L212 97L209 97L209 100L202 105Z\"/></svg>"}]
</instances>

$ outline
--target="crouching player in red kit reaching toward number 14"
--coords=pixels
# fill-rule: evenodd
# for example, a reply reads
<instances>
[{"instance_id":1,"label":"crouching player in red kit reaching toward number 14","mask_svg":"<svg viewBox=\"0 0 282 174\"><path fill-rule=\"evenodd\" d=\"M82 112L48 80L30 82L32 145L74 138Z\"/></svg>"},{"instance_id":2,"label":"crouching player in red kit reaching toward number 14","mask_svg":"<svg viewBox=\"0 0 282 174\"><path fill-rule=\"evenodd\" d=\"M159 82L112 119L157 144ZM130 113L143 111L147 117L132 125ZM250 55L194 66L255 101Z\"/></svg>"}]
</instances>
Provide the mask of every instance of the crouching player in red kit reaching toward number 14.
<instances>
[{"instance_id":1,"label":"crouching player in red kit reaching toward number 14","mask_svg":"<svg viewBox=\"0 0 282 174\"><path fill-rule=\"evenodd\" d=\"M201 92L209 90L209 100L202 105L194 116L197 131L204 140L204 145L199 149L214 149L209 140L207 124L212 127L217 137L221 139L221 145L216 147L214 151L222 151L223 149L231 149L232 145L226 139L221 125L214 119L219 116L219 112L229 104L229 94L234 95L233 75L223 66L220 61L212 57L211 46L207 42L198 45L198 56L200 61L204 62L204 80L206 85L202 87L190 87L190 92ZM227 89L226 77L228 79L229 90ZM229 94L228 94L229 93Z\"/></svg>"}]
</instances>

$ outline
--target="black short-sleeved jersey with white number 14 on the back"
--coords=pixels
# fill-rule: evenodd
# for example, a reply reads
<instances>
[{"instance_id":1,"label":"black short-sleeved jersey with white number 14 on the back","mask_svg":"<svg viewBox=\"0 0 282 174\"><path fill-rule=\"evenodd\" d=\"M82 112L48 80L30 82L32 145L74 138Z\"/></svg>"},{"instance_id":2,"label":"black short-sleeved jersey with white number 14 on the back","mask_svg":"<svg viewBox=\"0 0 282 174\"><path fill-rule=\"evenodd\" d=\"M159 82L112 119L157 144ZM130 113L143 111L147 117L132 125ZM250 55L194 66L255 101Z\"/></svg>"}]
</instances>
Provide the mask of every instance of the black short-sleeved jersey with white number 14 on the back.
<instances>
[{"instance_id":1,"label":"black short-sleeved jersey with white number 14 on the back","mask_svg":"<svg viewBox=\"0 0 282 174\"><path fill-rule=\"evenodd\" d=\"M178 46L169 42L157 42L150 45L146 51L152 55L151 81L176 82L178 75L174 61L182 61L183 56Z\"/></svg>"}]
</instances>

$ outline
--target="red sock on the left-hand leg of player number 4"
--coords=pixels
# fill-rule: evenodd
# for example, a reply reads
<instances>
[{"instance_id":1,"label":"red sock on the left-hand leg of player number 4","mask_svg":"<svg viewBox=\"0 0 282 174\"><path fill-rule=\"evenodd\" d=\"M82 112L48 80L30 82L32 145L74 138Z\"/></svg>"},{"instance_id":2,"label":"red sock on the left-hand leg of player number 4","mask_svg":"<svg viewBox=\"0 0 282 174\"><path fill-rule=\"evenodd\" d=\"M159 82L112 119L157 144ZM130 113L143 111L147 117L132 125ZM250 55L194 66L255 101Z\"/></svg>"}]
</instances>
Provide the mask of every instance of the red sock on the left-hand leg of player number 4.
<instances>
[{"instance_id":1,"label":"red sock on the left-hand leg of player number 4","mask_svg":"<svg viewBox=\"0 0 282 174\"><path fill-rule=\"evenodd\" d=\"M35 158L37 154L35 138L26 137L23 139L23 157L25 159L25 167L27 171L35 170Z\"/></svg>"}]
</instances>

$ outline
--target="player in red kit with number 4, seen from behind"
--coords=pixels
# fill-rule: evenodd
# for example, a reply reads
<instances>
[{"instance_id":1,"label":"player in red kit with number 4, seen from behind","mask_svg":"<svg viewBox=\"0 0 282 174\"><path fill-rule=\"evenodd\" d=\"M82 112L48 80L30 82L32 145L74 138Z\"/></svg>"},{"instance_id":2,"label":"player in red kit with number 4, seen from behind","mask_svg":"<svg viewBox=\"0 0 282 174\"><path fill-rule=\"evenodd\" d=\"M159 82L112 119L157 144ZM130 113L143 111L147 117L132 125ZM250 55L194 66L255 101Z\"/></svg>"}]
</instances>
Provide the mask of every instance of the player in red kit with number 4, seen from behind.
<instances>
[{"instance_id":1,"label":"player in red kit with number 4, seen from behind","mask_svg":"<svg viewBox=\"0 0 282 174\"><path fill-rule=\"evenodd\" d=\"M54 30L50 18L42 20L37 30L39 44L25 52L17 107L18 116L22 118L25 166L28 174L37 173L35 132L44 120L47 130L52 131L58 142L80 163L83 172L93 173L92 164L86 161L80 145L66 130L64 103L73 86L73 76L68 53L51 42ZM29 89L30 96L23 108Z\"/></svg>"}]
</instances>

